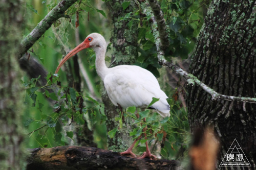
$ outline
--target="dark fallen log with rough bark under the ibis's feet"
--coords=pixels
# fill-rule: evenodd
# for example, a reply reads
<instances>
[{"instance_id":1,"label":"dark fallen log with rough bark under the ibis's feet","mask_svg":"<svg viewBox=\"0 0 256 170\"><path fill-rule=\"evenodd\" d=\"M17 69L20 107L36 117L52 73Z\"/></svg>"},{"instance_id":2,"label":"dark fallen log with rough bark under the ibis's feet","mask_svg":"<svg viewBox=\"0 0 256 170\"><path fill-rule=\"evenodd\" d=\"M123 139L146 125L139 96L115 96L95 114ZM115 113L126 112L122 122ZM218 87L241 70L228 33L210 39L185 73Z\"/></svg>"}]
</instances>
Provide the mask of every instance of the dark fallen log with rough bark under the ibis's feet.
<instances>
[{"instance_id":1,"label":"dark fallen log with rough bark under the ibis's feet","mask_svg":"<svg viewBox=\"0 0 256 170\"><path fill-rule=\"evenodd\" d=\"M135 159L92 147L55 147L31 150L29 169L176 169L179 161Z\"/></svg>"}]
</instances>

